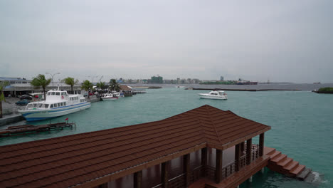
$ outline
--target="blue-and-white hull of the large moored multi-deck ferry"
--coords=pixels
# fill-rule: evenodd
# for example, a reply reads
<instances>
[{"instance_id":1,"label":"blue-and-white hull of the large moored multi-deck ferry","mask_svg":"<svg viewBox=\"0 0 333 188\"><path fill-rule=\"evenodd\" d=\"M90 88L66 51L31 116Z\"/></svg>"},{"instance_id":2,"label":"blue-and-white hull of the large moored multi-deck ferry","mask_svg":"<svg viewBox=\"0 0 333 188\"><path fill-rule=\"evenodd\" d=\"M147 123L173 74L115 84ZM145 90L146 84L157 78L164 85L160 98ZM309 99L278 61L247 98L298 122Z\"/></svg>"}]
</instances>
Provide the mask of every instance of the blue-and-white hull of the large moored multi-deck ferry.
<instances>
[{"instance_id":1,"label":"blue-and-white hull of the large moored multi-deck ferry","mask_svg":"<svg viewBox=\"0 0 333 188\"><path fill-rule=\"evenodd\" d=\"M27 121L47 120L53 117L68 115L80 110L90 108L90 103L78 103L75 105L63 106L60 108L52 108L47 110L18 110Z\"/></svg>"}]
</instances>

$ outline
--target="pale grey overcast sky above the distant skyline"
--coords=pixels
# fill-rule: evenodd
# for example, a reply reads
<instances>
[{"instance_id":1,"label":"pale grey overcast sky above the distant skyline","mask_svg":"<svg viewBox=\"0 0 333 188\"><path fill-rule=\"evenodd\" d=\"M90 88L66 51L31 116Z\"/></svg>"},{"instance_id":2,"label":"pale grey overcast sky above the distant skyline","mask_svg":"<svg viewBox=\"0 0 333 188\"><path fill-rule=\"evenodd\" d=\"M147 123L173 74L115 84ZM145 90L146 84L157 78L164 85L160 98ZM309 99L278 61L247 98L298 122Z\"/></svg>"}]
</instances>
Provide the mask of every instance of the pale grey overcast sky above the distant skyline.
<instances>
[{"instance_id":1,"label":"pale grey overcast sky above the distant skyline","mask_svg":"<svg viewBox=\"0 0 333 188\"><path fill-rule=\"evenodd\" d=\"M333 83L332 10L332 0L0 0L0 76Z\"/></svg>"}]
</instances>

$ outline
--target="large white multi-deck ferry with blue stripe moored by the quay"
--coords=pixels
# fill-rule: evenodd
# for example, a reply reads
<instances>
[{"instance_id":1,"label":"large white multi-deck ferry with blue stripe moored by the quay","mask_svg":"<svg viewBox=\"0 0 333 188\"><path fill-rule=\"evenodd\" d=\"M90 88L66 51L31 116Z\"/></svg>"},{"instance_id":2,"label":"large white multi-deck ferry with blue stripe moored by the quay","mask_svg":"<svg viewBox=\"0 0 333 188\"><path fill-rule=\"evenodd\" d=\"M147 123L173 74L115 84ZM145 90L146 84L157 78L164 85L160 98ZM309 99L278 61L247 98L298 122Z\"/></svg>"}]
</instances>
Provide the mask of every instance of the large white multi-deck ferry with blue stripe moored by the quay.
<instances>
[{"instance_id":1,"label":"large white multi-deck ferry with blue stripe moored by the quay","mask_svg":"<svg viewBox=\"0 0 333 188\"><path fill-rule=\"evenodd\" d=\"M28 103L25 110L18 110L27 121L46 120L90 108L83 95L68 95L65 90L49 90L46 100Z\"/></svg>"}]
</instances>

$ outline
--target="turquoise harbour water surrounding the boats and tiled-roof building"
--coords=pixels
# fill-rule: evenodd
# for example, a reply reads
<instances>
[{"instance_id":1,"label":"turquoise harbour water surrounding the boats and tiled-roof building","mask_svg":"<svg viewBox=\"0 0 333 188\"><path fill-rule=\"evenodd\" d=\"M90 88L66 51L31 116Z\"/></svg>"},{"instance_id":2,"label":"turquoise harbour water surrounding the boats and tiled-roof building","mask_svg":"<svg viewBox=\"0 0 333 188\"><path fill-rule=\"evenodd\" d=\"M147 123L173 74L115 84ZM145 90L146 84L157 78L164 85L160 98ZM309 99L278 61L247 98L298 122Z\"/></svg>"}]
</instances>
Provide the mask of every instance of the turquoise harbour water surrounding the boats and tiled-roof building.
<instances>
[{"instance_id":1,"label":"turquoise harbour water surrounding the boats and tiled-roof building","mask_svg":"<svg viewBox=\"0 0 333 188\"><path fill-rule=\"evenodd\" d=\"M240 187L332 187L333 180L333 95L308 91L228 91L228 100L199 99L200 90L162 88L147 90L146 94L120 98L115 101L92 103L91 108L53 119L63 122L66 117L77 124L73 130L43 132L39 135L1 138L0 145L73 135L161 120L201 105L211 105L250 120L270 125L265 133L265 145L277 150L323 174L317 183L300 182L265 169L253 182ZM48 121L33 122L34 125Z\"/></svg>"}]
</instances>

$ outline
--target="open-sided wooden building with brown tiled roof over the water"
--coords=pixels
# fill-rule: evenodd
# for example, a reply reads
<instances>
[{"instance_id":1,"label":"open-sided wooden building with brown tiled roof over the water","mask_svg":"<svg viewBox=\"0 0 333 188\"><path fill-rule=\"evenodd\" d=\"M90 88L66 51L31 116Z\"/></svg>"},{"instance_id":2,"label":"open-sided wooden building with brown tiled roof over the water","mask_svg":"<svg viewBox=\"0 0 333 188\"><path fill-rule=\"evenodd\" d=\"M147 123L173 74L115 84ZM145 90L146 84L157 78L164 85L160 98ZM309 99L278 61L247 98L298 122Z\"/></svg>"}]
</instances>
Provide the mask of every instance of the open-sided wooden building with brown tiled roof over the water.
<instances>
[{"instance_id":1,"label":"open-sided wooden building with brown tiled roof over the water","mask_svg":"<svg viewBox=\"0 0 333 188\"><path fill-rule=\"evenodd\" d=\"M155 122L6 145L0 187L237 187L268 164L268 130L203 105Z\"/></svg>"}]
</instances>

